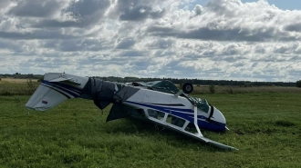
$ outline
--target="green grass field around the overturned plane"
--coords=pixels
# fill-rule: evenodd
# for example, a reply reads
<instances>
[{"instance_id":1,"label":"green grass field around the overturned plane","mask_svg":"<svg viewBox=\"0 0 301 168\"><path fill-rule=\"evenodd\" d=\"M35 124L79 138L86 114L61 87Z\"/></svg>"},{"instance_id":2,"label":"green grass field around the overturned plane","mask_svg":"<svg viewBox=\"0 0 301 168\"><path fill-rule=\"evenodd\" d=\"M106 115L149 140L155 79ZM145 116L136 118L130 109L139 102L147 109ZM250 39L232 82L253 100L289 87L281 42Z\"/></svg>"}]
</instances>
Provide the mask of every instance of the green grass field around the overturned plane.
<instances>
[{"instance_id":1,"label":"green grass field around the overturned plane","mask_svg":"<svg viewBox=\"0 0 301 168\"><path fill-rule=\"evenodd\" d=\"M220 109L230 128L204 136L239 151L133 119L106 123L109 108L102 114L92 101L68 100L42 113L24 107L29 95L0 96L0 167L301 167L300 90L228 89L194 96Z\"/></svg>"}]
</instances>

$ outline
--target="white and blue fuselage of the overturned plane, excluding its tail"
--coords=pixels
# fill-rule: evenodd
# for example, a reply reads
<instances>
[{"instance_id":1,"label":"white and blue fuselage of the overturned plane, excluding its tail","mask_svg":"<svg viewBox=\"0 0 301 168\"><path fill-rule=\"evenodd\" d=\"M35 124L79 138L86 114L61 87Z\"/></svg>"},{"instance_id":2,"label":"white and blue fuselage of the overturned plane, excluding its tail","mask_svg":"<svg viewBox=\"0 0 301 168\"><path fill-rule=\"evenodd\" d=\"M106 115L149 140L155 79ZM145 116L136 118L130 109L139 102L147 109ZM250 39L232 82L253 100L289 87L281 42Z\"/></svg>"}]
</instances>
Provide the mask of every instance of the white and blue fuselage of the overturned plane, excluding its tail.
<instances>
[{"instance_id":1,"label":"white and blue fuselage of the overturned plane, excluding its tail","mask_svg":"<svg viewBox=\"0 0 301 168\"><path fill-rule=\"evenodd\" d=\"M193 123L194 120L194 105L183 96L175 96L174 94L140 88L139 92L131 96L123 104L130 105L137 109L143 109L144 111L152 109L162 113L171 114L184 120L188 120L191 123ZM226 123L223 114L213 106L210 108L213 108L212 116L210 116L212 109L207 113L198 109L197 121L199 127L211 131L225 131Z\"/></svg>"}]
</instances>

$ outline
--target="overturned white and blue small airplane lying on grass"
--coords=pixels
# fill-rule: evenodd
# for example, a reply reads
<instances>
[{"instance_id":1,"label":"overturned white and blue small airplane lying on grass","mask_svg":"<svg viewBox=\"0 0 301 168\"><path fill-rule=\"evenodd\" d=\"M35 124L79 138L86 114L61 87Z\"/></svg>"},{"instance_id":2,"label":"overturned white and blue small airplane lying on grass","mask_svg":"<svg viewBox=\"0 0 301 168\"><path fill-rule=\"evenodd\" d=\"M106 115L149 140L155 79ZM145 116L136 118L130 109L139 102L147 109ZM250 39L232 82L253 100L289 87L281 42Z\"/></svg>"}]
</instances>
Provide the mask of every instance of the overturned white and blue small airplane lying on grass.
<instances>
[{"instance_id":1,"label":"overturned white and blue small airplane lying on grass","mask_svg":"<svg viewBox=\"0 0 301 168\"><path fill-rule=\"evenodd\" d=\"M233 146L205 138L201 129L228 130L223 114L206 99L192 97L193 85L185 83L180 91L170 81L119 84L94 77L47 73L26 108L46 111L67 99L93 100L103 110L113 104L107 122L127 116L149 121L225 150Z\"/></svg>"}]
</instances>

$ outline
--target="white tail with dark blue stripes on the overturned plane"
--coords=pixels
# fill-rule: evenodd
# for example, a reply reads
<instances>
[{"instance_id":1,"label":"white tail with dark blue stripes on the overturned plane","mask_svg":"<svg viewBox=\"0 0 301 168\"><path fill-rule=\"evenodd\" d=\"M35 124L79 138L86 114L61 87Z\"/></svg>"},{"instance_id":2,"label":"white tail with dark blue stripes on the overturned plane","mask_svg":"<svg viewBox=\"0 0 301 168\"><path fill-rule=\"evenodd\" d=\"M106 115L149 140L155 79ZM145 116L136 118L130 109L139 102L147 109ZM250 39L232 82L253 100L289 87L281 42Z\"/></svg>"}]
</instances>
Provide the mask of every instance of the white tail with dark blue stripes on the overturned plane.
<instances>
[{"instance_id":1,"label":"white tail with dark blue stripes on the overturned plane","mask_svg":"<svg viewBox=\"0 0 301 168\"><path fill-rule=\"evenodd\" d=\"M67 99L80 96L88 77L72 74L48 73L26 103L26 107L38 111L48 110Z\"/></svg>"}]
</instances>

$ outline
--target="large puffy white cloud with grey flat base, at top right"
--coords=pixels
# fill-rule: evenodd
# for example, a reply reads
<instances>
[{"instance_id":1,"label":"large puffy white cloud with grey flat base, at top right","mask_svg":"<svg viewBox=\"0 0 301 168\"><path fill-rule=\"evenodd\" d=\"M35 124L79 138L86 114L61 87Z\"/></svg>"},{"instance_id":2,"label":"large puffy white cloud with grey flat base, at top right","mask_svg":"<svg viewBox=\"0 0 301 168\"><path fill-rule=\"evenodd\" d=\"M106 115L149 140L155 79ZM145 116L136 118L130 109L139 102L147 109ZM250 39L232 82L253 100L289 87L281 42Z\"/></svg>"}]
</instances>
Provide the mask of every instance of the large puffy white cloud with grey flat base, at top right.
<instances>
[{"instance_id":1,"label":"large puffy white cloud with grey flat base, at top right","mask_svg":"<svg viewBox=\"0 0 301 168\"><path fill-rule=\"evenodd\" d=\"M295 24L297 15L300 12L284 12L265 1L243 4L240 0L213 0L204 7L196 5L190 13L174 15L175 22L150 25L147 32L155 36L214 41L299 41L300 35L291 33L299 31Z\"/></svg>"}]
</instances>

